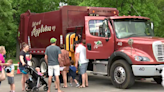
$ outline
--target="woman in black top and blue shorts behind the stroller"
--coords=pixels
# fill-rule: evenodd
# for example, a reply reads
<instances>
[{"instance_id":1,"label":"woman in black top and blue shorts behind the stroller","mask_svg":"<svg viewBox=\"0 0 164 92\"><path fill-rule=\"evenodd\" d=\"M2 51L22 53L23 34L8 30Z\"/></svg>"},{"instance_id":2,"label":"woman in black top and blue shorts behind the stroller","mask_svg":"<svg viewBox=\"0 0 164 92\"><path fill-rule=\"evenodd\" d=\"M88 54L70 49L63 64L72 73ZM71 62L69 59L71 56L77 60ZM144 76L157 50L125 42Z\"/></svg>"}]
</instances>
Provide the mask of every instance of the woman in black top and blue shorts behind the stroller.
<instances>
[{"instance_id":1,"label":"woman in black top and blue shorts behind the stroller","mask_svg":"<svg viewBox=\"0 0 164 92\"><path fill-rule=\"evenodd\" d=\"M19 55L19 59L20 59L19 69L22 72L22 80L21 80L22 81L22 91L24 91L25 90L25 82L28 79L28 74L27 74L27 72L24 71L24 69L25 69L25 66L27 65L26 55L29 51L29 46L26 43L23 43L22 47L23 47L23 49Z\"/></svg>"}]
</instances>

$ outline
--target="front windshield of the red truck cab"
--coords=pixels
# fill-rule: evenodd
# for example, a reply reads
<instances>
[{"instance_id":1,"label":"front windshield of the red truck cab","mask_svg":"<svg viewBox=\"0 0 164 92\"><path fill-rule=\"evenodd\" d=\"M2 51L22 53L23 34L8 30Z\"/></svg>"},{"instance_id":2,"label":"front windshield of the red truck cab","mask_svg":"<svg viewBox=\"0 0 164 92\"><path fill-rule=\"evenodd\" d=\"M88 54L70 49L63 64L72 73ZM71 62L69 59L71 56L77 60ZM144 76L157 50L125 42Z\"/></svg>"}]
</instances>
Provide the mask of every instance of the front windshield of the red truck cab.
<instances>
[{"instance_id":1,"label":"front windshield of the red truck cab","mask_svg":"<svg viewBox=\"0 0 164 92\"><path fill-rule=\"evenodd\" d=\"M121 19L114 20L117 38L154 36L153 28L148 20Z\"/></svg>"}]
</instances>

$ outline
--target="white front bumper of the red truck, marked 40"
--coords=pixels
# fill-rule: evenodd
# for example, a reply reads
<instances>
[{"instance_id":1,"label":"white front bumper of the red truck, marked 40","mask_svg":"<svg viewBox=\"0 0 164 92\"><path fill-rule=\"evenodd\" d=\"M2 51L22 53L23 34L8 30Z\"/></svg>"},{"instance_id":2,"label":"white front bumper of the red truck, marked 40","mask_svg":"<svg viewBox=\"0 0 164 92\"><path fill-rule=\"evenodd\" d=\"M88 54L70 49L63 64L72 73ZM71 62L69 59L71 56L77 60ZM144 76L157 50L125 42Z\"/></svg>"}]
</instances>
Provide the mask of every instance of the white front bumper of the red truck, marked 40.
<instances>
[{"instance_id":1,"label":"white front bumper of the red truck, marked 40","mask_svg":"<svg viewBox=\"0 0 164 92\"><path fill-rule=\"evenodd\" d=\"M164 65L132 65L134 76L161 76Z\"/></svg>"}]
</instances>

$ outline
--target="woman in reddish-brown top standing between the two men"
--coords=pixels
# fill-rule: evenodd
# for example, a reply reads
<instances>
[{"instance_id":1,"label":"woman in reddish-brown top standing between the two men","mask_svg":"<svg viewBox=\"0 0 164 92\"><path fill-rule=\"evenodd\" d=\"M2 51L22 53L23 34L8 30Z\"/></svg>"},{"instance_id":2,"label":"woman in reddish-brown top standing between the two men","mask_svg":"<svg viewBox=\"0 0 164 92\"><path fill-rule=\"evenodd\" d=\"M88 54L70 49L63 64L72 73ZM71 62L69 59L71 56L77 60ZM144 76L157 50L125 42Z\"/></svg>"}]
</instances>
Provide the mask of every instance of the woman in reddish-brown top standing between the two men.
<instances>
[{"instance_id":1,"label":"woman in reddish-brown top standing between the two men","mask_svg":"<svg viewBox=\"0 0 164 92\"><path fill-rule=\"evenodd\" d=\"M67 88L67 71L69 70L69 66L70 66L69 52L64 49L63 44L60 45L60 48L61 48L61 59L59 59L60 67L65 67L63 71L61 71L64 81L63 88Z\"/></svg>"}]
</instances>

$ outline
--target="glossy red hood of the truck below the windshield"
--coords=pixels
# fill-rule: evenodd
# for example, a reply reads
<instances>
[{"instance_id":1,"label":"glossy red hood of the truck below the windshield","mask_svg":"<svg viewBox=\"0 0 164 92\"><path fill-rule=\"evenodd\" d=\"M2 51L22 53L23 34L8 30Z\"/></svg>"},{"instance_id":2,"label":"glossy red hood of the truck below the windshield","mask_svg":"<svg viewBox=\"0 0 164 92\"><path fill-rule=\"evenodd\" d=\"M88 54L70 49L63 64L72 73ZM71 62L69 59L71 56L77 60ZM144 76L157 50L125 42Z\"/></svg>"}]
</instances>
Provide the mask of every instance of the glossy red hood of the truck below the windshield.
<instances>
[{"instance_id":1,"label":"glossy red hood of the truck below the windshield","mask_svg":"<svg viewBox=\"0 0 164 92\"><path fill-rule=\"evenodd\" d=\"M117 40L117 49L122 50L129 48L128 40L133 39L133 45L132 47L135 49L135 53L138 53L138 55L143 55L146 57L150 57L154 62L157 59L157 54L154 53L154 51L157 51L158 48L154 47L157 44L163 44L164 38L159 37L130 37L130 38L124 38L124 39L118 39ZM131 48L131 47L130 47ZM162 58L164 58L162 56ZM164 59L162 60L164 62ZM158 62L159 63L159 62Z\"/></svg>"}]
</instances>

